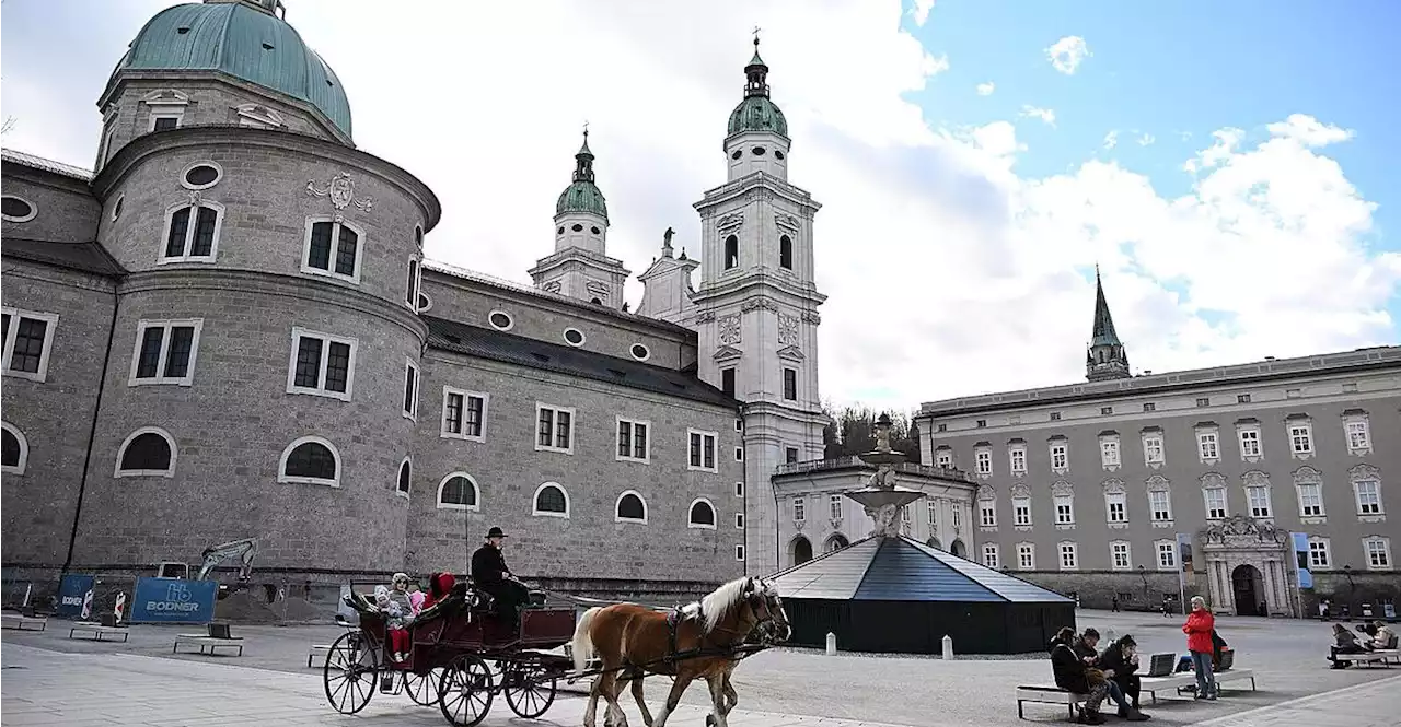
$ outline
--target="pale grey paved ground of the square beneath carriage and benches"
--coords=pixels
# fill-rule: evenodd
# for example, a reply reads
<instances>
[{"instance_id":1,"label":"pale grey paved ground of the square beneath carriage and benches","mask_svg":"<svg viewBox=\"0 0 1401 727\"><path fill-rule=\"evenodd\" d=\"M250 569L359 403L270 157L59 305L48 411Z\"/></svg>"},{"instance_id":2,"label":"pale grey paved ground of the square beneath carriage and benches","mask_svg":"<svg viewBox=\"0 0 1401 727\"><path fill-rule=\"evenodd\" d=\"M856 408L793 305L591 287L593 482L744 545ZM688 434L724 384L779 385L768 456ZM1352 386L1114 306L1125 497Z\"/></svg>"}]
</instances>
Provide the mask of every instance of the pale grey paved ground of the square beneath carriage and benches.
<instances>
[{"instance_id":1,"label":"pale grey paved ground of the square beneath carriage and benches","mask_svg":"<svg viewBox=\"0 0 1401 727\"><path fill-rule=\"evenodd\" d=\"M1152 653L1180 650L1180 617L1161 618L1153 614L1082 611L1077 625L1093 625L1105 635L1110 629L1119 635L1133 633L1140 649ZM1248 716L1252 714L1248 710L1257 707L1290 703L1289 700L1309 695L1397 674L1394 668L1328 670L1323 661L1328 629L1317 622L1222 618L1219 628L1240 654L1237 665L1255 670L1259 691L1229 691L1222 700L1212 703L1163 699L1159 705L1145 706L1153 714L1152 724L1194 724L1233 714ZM76 719L74 714L83 717L84 712L91 714L94 710L111 714L118 724L237 724L237 720L266 723L268 716L259 716L259 706L266 703L276 705L279 714L294 720L287 721L289 724L387 724L389 720L394 724L446 724L440 713L415 707L405 696L375 695L360 717L335 714L325 703L319 672L307 668L307 650L311 643L329 643L342 632L336 626L235 625L234 632L247 642L242 657L172 656L174 635L188 631L189 626L139 625L132 628L129 645L69 640L67 629L60 621L50 622L49 631L39 633L3 631L0 642L7 643L0 643L0 665L22 668L0 670L0 724L27 724L14 721L20 717L10 713L17 710L17 700L25 705L24 719L31 723L43 719L46 710L66 710L62 712L62 719L50 714L50 723L63 724ZM1012 726L1019 724L1013 698L1016 685L1047 684L1049 677L1049 665L1040 656L943 661L845 653L827 657L814 652L776 649L745 660L736 671L740 706L734 713L734 724L836 726L864 720L915 727ZM1390 693L1379 692L1383 703L1387 702L1384 698L1401 688L1395 682L1390 684ZM649 679L647 702L653 709L665 698L668 688L670 682L665 679ZM1342 699L1349 705L1359 700L1376 702L1374 695ZM678 712L672 724L702 724L705 710L700 706L709 702L705 686L692 686L682 702L691 709ZM630 703L630 699L625 699L625 703ZM186 709L184 705L193 705L188 709L196 712L157 714L157 707ZM105 707L106 712L98 707ZM581 710L580 699L562 693L546 717L559 724L577 726L581 724ZM495 705L493 713L492 719L497 721L489 720L488 724L506 724L513 717L506 705ZM160 714L168 716L163 720ZM1027 717L1033 721L1054 723L1062 720L1063 714L1062 709L1051 705L1027 705ZM1292 719L1289 714L1295 713L1282 714L1279 719ZM198 721L200 719L206 721ZM521 721L514 720L514 724ZM636 714L632 714L630 723L633 727L640 726ZM1220 724L1244 727L1254 723ZM1279 726L1289 721L1259 724ZM1349 723L1349 727L1366 724L1372 723L1356 721Z\"/></svg>"}]
</instances>

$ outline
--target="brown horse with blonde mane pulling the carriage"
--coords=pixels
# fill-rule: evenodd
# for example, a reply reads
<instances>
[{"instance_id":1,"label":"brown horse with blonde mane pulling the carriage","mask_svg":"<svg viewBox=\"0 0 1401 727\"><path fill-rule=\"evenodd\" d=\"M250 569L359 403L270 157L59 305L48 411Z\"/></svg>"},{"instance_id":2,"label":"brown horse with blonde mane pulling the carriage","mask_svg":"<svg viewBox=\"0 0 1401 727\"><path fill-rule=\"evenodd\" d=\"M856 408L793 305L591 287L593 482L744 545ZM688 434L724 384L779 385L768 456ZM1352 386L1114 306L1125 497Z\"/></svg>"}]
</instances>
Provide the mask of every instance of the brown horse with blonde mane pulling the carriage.
<instances>
[{"instance_id":1,"label":"brown horse with blonde mane pulling the carriage","mask_svg":"<svg viewBox=\"0 0 1401 727\"><path fill-rule=\"evenodd\" d=\"M588 691L584 727L594 727L600 696L608 702L604 724L626 727L628 716L618 705L625 682L632 682L643 723L665 727L667 716L698 678L710 686L715 723L727 727L726 716L738 700L729 678L741 656L738 649L747 643L780 643L790 635L778 590L755 577L731 580L670 614L636 604L590 608L574 628L574 671L581 674L597 654L602 672ZM675 677L654 720L642 699L642 679L647 674Z\"/></svg>"}]
</instances>

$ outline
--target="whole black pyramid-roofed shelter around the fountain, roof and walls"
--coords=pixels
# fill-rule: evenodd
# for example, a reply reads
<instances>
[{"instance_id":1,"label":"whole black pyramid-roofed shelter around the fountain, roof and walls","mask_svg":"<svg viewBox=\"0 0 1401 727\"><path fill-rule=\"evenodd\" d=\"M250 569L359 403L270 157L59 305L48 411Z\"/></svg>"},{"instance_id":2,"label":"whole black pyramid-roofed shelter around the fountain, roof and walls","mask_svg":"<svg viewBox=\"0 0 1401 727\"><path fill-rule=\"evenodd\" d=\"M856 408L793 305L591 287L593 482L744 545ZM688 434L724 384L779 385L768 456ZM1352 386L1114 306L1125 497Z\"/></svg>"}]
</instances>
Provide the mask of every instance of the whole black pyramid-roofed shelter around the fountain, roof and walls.
<instances>
[{"instance_id":1,"label":"whole black pyramid-roofed shelter around the fountain, roof and walls","mask_svg":"<svg viewBox=\"0 0 1401 727\"><path fill-rule=\"evenodd\" d=\"M1075 601L906 537L869 537L776 573L789 643L846 652L1044 652Z\"/></svg>"}]
</instances>

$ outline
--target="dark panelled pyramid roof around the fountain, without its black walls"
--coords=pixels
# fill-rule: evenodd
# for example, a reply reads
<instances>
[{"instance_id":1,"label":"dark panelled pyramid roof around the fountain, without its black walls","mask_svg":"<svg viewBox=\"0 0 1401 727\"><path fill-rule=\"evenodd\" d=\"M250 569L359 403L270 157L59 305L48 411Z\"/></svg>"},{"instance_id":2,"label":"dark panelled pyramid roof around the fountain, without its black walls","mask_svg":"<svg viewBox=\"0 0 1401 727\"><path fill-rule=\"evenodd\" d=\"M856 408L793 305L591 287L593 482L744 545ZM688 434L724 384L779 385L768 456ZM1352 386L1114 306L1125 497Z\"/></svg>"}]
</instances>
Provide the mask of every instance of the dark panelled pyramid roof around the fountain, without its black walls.
<instances>
[{"instance_id":1,"label":"dark panelled pyramid roof around the fountain, without its black walls","mask_svg":"<svg viewBox=\"0 0 1401 727\"><path fill-rule=\"evenodd\" d=\"M859 540L775 576L785 598L1069 603L1058 593L906 537Z\"/></svg>"}]
</instances>

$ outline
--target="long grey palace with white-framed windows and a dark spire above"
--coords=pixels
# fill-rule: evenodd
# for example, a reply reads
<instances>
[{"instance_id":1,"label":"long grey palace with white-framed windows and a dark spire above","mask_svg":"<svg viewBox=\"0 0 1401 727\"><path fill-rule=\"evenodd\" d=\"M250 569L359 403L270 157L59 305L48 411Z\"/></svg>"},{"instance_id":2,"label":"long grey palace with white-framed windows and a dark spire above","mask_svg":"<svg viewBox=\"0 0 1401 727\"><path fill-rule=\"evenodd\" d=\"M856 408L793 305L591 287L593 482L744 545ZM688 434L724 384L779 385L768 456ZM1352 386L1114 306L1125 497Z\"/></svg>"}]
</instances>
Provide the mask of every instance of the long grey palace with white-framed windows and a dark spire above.
<instances>
[{"instance_id":1,"label":"long grey palace with white-framed windows and a dark spire above","mask_svg":"<svg viewBox=\"0 0 1401 727\"><path fill-rule=\"evenodd\" d=\"M1098 282L1098 281L1097 281ZM1374 615L1401 600L1387 502L1401 473L1401 348L1129 373L1103 284L1087 382L927 403L925 464L976 482L969 558L1125 608ZM1307 538L1300 591L1292 533ZM1309 576L1304 576L1306 579Z\"/></svg>"}]
</instances>

